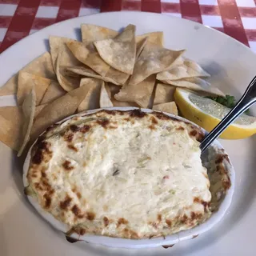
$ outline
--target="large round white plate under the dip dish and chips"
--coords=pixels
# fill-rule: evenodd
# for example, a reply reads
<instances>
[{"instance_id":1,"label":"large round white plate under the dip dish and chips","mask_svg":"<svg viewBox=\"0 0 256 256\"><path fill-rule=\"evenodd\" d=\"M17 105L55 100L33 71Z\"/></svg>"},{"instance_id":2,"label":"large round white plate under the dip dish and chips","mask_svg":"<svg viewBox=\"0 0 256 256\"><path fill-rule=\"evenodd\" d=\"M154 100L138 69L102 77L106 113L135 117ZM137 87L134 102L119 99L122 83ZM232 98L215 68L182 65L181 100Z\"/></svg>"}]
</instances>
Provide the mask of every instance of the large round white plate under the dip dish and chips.
<instances>
[{"instance_id":1,"label":"large round white plate under the dip dish and chips","mask_svg":"<svg viewBox=\"0 0 256 256\"><path fill-rule=\"evenodd\" d=\"M250 49L216 30L160 14L118 12L60 22L11 46L0 55L0 85L47 50L46 39L50 34L79 38L78 28L82 22L115 30L133 23L138 26L138 34L162 30L166 47L186 48L186 56L202 64L213 75L211 80L214 84L235 96L242 94L256 73L256 56ZM12 105L14 97L2 97L0 104ZM22 163L1 144L0 255L254 255L255 136L239 141L222 140L222 145L234 164L236 189L228 213L217 226L198 238L180 242L168 250L161 247L150 250L115 250L85 242L70 244L62 234L50 229L50 226L38 218L38 214L23 196Z\"/></svg>"}]
</instances>

